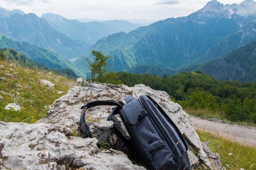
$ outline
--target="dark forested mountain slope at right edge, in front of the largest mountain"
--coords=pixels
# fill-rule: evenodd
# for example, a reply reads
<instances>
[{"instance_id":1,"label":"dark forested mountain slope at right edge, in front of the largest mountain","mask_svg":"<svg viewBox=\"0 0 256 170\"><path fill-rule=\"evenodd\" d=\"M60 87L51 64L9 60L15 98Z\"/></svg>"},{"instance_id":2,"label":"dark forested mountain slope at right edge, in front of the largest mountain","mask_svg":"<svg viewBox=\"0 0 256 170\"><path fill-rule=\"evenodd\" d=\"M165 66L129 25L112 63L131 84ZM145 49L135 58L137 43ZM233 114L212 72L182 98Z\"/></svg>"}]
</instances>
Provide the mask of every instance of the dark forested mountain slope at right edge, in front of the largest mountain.
<instances>
[{"instance_id":1,"label":"dark forested mountain slope at right edge, in front of the largest mountain","mask_svg":"<svg viewBox=\"0 0 256 170\"><path fill-rule=\"evenodd\" d=\"M234 49L222 57L188 66L179 72L196 70L219 80L236 79L239 82L256 82L256 40Z\"/></svg>"}]
</instances>

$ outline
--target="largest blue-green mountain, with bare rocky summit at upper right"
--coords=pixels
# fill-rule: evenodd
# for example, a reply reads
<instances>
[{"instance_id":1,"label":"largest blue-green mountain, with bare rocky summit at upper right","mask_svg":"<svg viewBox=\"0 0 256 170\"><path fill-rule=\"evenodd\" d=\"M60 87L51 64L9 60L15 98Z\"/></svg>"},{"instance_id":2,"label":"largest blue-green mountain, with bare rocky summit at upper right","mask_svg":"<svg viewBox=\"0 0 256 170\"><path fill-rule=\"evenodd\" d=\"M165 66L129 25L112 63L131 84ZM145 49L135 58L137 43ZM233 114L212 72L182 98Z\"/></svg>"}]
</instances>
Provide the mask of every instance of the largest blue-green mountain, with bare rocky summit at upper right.
<instances>
[{"instance_id":1,"label":"largest blue-green mountain, with bare rocky summit at upper right","mask_svg":"<svg viewBox=\"0 0 256 170\"><path fill-rule=\"evenodd\" d=\"M115 33L98 40L92 49L113 55L114 71L137 64L180 69L199 64L256 39L256 2L223 5L216 0L187 17L168 18L129 33ZM91 50L92 50L91 49ZM82 70L84 57L74 63Z\"/></svg>"}]
</instances>

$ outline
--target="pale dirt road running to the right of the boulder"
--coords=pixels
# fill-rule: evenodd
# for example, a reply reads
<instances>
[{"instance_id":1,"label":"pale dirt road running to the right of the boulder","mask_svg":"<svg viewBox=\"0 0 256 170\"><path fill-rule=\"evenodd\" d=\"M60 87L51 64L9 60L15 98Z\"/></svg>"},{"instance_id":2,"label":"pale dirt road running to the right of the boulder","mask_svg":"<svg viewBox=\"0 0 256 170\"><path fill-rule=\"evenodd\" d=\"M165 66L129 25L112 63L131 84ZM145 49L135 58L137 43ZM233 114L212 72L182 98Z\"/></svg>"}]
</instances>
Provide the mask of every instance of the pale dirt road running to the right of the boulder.
<instances>
[{"instance_id":1,"label":"pale dirt road running to the right of the boulder","mask_svg":"<svg viewBox=\"0 0 256 170\"><path fill-rule=\"evenodd\" d=\"M195 129L206 130L215 135L220 134L231 141L237 141L248 146L256 146L256 127L238 124L221 123L220 121L209 121L190 115Z\"/></svg>"}]
</instances>

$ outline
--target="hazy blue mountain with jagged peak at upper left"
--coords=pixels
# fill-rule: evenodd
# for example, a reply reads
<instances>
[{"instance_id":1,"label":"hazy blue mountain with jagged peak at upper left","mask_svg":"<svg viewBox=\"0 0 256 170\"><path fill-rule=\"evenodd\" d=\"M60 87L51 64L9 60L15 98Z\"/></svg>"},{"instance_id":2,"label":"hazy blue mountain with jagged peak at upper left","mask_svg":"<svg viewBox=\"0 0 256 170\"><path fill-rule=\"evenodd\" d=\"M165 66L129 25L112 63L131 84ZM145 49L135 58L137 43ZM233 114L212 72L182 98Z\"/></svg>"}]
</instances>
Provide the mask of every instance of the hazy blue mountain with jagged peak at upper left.
<instances>
[{"instance_id":1,"label":"hazy blue mountain with jagged peak at upper left","mask_svg":"<svg viewBox=\"0 0 256 170\"><path fill-rule=\"evenodd\" d=\"M36 44L65 59L79 57L90 48L85 42L72 40L59 33L46 20L37 17L34 13L18 12L11 15L12 13L1 9L0 32L14 40Z\"/></svg>"}]
</instances>

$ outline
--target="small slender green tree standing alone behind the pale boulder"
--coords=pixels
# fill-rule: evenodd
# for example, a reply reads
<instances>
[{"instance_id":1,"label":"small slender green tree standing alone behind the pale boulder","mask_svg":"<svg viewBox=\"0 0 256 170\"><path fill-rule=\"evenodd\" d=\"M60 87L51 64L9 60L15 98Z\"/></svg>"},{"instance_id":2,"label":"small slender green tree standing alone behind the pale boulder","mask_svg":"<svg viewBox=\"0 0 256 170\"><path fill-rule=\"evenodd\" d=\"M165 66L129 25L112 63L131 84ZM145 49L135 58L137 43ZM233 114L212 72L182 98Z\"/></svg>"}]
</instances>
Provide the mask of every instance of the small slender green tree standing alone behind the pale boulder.
<instances>
[{"instance_id":1,"label":"small slender green tree standing alone behind the pale boulder","mask_svg":"<svg viewBox=\"0 0 256 170\"><path fill-rule=\"evenodd\" d=\"M105 56L99 51L92 50L92 55L94 56L94 61L92 62L89 58L85 60L88 62L88 69L92 73L92 81L96 78L99 80L106 74L106 69L108 66L107 61L112 58L112 55Z\"/></svg>"}]
</instances>

